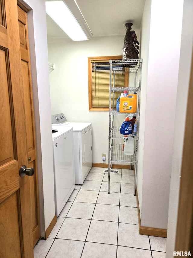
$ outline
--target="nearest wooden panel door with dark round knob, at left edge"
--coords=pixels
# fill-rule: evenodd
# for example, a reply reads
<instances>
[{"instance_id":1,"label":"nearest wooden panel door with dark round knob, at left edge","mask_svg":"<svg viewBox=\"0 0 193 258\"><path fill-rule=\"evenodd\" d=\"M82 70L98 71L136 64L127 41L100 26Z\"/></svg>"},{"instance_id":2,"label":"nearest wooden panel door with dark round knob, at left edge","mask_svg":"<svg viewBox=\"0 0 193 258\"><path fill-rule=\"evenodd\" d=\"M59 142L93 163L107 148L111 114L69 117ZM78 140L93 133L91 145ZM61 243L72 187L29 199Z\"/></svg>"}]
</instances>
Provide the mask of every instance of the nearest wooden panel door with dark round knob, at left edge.
<instances>
[{"instance_id":1,"label":"nearest wooden panel door with dark round knob, at left edge","mask_svg":"<svg viewBox=\"0 0 193 258\"><path fill-rule=\"evenodd\" d=\"M32 121L33 116L31 110L26 108L26 79L23 80L25 69L22 66L17 0L1 0L0 257L6 258L33 257L34 222L31 207L34 203L31 197L34 195L35 179L27 175L19 176L22 165L35 165L35 147L32 144L30 147L28 139L29 127L34 128L28 124L29 116ZM31 163L28 162L29 154L32 156Z\"/></svg>"}]
</instances>

